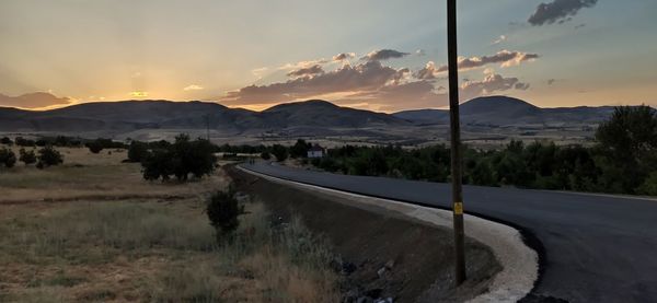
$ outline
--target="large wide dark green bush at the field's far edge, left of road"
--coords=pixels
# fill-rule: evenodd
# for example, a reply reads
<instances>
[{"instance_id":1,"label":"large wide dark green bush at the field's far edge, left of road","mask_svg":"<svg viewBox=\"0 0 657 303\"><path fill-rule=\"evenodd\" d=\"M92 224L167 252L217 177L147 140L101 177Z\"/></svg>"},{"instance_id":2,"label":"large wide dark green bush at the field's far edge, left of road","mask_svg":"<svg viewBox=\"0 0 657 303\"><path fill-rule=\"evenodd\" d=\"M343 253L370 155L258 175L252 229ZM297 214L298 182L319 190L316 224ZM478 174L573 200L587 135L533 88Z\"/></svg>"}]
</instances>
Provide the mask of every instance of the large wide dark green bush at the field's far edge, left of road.
<instances>
[{"instance_id":1,"label":"large wide dark green bush at the field's far edge, left of road","mask_svg":"<svg viewBox=\"0 0 657 303\"><path fill-rule=\"evenodd\" d=\"M189 174L196 178L215 171L215 145L208 140L189 141L186 135L175 138L175 143L155 149L141 162L145 179L170 179L174 175L178 180L187 180Z\"/></svg>"}]
</instances>

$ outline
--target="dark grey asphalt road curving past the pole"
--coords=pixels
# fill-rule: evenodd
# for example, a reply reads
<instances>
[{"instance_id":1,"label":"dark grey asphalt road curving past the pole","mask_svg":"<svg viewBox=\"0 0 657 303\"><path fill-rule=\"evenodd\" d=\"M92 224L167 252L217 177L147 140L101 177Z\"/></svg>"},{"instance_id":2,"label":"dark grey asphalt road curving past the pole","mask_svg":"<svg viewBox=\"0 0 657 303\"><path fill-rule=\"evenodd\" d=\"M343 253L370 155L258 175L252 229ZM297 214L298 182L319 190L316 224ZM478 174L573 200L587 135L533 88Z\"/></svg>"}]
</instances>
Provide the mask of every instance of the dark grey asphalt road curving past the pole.
<instances>
[{"instance_id":1,"label":"dark grey asphalt road curving past the pole","mask_svg":"<svg viewBox=\"0 0 657 303\"><path fill-rule=\"evenodd\" d=\"M366 196L450 208L449 184L265 163L242 167ZM657 302L657 200L465 186L464 211L512 223L542 243L544 266L534 294L569 302Z\"/></svg>"}]
</instances>

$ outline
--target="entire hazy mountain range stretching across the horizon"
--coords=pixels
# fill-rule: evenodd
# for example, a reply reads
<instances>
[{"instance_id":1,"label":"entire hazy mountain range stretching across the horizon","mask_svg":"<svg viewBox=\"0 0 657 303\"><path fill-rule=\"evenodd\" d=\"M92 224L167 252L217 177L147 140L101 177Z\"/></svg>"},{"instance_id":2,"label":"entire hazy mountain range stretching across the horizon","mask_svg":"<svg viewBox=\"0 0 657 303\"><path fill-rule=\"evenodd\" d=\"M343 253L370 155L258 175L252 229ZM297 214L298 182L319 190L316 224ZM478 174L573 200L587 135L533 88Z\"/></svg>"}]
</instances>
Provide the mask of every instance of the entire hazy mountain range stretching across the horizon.
<instances>
[{"instance_id":1,"label":"entire hazy mountain range stretching across the horizon","mask_svg":"<svg viewBox=\"0 0 657 303\"><path fill-rule=\"evenodd\" d=\"M507 96L479 97L460 106L463 125L573 125L598 124L613 107L541 108ZM224 133L257 133L303 129L407 128L447 125L449 110L419 109L394 114L341 107L311 100L273 106L263 112L229 108L210 102L123 101L71 105L50 110L0 107L0 131L128 132L139 129L205 129Z\"/></svg>"}]
</instances>

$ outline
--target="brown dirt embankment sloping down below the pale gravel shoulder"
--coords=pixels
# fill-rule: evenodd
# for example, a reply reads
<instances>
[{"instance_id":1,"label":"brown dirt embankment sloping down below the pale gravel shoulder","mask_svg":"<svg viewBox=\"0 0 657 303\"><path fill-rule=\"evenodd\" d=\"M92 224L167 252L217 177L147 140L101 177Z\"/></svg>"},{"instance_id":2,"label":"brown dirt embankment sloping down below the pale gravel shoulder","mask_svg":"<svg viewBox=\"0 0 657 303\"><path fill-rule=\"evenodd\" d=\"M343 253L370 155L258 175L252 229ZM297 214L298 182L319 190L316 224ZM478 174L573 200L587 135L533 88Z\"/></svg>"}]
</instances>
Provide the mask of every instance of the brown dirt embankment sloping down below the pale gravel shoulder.
<instances>
[{"instance_id":1,"label":"brown dirt embankment sloping down below the pale gravel shoulder","mask_svg":"<svg viewBox=\"0 0 657 303\"><path fill-rule=\"evenodd\" d=\"M459 302L486 291L500 269L493 253L466 240L469 280L453 287L452 231L381 209L348 206L341 199L281 186L227 167L237 189L265 202L275 218L299 214L325 235L342 261L346 299L392 298L394 302Z\"/></svg>"}]
</instances>

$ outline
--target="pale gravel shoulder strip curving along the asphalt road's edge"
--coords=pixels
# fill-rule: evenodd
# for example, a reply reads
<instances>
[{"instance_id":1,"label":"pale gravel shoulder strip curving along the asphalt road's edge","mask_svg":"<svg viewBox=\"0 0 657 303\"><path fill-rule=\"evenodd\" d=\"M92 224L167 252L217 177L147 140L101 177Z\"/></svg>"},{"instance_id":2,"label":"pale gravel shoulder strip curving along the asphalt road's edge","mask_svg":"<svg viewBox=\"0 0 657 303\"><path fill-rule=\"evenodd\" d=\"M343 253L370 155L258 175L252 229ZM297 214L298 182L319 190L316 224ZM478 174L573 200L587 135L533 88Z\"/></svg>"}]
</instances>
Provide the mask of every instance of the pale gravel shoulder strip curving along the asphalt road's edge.
<instances>
[{"instance_id":1,"label":"pale gravel shoulder strip curving along the asphalt road's edge","mask_svg":"<svg viewBox=\"0 0 657 303\"><path fill-rule=\"evenodd\" d=\"M397 211L410 218L418 219L438 226L452 228L452 212L448 210L427 208L395 200L373 198L302 184L260 174L241 166L237 167L245 173L276 183L313 191L321 191L326 195L346 199L350 202L369 207L380 207L382 209ZM465 205L465 207L466 206L468 205ZM471 214L464 214L464 221L465 235L491 247L493 254L503 267L502 271L495 276L493 282L488 287L488 292L483 293L469 302L517 302L525 298L525 295L531 291L539 277L539 256L537 252L528 247L522 242L520 232L511 226L484 220Z\"/></svg>"}]
</instances>

